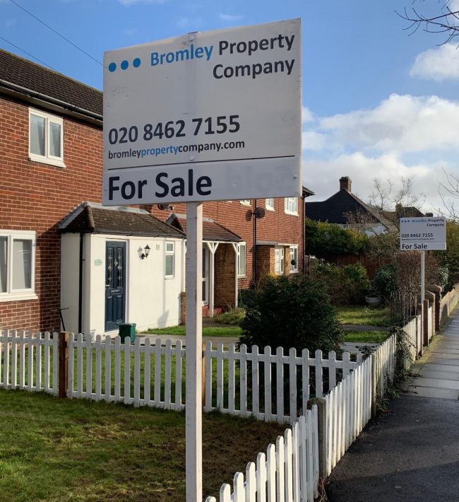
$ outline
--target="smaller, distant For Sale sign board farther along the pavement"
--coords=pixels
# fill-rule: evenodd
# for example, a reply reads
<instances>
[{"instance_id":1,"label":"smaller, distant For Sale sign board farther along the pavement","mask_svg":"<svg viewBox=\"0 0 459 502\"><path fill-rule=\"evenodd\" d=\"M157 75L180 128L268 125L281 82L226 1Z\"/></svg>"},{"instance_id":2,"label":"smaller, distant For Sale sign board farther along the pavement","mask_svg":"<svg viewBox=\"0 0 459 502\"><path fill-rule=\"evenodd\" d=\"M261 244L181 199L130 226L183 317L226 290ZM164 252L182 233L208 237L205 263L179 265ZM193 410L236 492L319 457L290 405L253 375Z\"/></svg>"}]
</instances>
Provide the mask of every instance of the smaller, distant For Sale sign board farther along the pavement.
<instances>
[{"instance_id":1,"label":"smaller, distant For Sale sign board farther along the pavement","mask_svg":"<svg viewBox=\"0 0 459 502\"><path fill-rule=\"evenodd\" d=\"M446 250L446 218L400 218L400 250Z\"/></svg>"}]
</instances>

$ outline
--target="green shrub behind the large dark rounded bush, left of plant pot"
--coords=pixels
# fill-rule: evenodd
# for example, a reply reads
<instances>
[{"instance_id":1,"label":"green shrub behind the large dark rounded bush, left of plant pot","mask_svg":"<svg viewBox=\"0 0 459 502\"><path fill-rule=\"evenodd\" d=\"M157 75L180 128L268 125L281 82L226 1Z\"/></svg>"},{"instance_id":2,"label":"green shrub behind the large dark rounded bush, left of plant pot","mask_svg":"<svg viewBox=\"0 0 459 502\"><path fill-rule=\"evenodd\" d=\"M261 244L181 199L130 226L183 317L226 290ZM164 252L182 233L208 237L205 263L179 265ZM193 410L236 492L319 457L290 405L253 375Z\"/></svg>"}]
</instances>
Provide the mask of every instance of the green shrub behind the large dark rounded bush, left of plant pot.
<instances>
[{"instance_id":1,"label":"green shrub behind the large dark rounded bush, left of plant pot","mask_svg":"<svg viewBox=\"0 0 459 502\"><path fill-rule=\"evenodd\" d=\"M320 279L335 305L361 303L371 288L365 267L360 263L339 267L326 263L314 268L314 277Z\"/></svg>"}]
</instances>

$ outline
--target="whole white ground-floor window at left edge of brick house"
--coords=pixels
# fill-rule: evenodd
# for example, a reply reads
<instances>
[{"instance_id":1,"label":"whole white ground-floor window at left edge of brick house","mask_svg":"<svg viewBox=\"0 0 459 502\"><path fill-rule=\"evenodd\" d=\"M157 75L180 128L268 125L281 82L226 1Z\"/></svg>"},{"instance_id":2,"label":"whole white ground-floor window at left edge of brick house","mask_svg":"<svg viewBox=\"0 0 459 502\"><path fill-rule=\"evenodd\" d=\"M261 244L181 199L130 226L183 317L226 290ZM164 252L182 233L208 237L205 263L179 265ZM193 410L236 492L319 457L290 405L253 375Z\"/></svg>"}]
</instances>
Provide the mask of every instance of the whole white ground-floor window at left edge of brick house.
<instances>
[{"instance_id":1,"label":"whole white ground-floor window at left edge of brick house","mask_svg":"<svg viewBox=\"0 0 459 502\"><path fill-rule=\"evenodd\" d=\"M0 301L35 295L35 232L0 230Z\"/></svg>"}]
</instances>

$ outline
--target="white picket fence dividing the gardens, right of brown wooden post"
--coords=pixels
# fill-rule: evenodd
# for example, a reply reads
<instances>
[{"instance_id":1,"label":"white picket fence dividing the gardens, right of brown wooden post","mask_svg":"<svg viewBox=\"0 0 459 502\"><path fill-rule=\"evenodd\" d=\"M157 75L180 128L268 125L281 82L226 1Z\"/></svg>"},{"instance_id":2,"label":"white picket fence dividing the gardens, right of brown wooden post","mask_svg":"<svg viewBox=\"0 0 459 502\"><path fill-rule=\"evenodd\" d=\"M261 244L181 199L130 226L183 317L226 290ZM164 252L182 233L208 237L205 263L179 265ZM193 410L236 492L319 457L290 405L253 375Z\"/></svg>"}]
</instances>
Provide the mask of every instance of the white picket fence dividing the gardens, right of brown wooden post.
<instances>
[{"instance_id":1,"label":"white picket fence dividing the gardens, right of brown wooden post","mask_svg":"<svg viewBox=\"0 0 459 502\"><path fill-rule=\"evenodd\" d=\"M290 423L306 409L311 396L321 397L362 361L361 355L350 361L347 352L342 360L333 351L324 359L321 351L311 358L307 349L301 357L290 349L285 356L282 347L272 354L267 346L259 354L257 346L247 352L245 345L240 351L234 344L227 350L223 344L213 349L211 342L205 344L203 356L205 411ZM119 337L102 341L97 336L92 342L70 334L68 397L183 409L185 357L180 341L173 346L170 340L162 345L157 339L152 345L147 338L141 344L138 337L134 344L129 339L121 344Z\"/></svg>"}]
</instances>

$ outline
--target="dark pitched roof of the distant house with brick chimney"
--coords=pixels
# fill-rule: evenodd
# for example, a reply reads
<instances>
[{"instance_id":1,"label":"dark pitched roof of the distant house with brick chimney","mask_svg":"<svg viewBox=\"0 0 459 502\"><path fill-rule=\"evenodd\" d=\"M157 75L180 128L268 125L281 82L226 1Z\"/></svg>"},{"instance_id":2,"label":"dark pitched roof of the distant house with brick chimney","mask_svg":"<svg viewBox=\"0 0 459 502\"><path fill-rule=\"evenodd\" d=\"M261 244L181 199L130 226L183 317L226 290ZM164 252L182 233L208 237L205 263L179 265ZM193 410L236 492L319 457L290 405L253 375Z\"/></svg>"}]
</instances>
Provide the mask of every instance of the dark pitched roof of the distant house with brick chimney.
<instances>
[{"instance_id":1,"label":"dark pitched roof of the distant house with brick chimney","mask_svg":"<svg viewBox=\"0 0 459 502\"><path fill-rule=\"evenodd\" d=\"M365 204L357 195L346 189L341 189L323 202L305 202L306 218L315 221L328 221L328 223L348 223L347 214L364 212L375 224L381 223L388 230L395 230L395 226L388 218L368 204Z\"/></svg>"}]
</instances>

